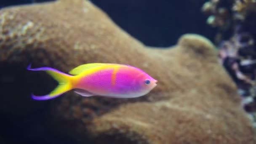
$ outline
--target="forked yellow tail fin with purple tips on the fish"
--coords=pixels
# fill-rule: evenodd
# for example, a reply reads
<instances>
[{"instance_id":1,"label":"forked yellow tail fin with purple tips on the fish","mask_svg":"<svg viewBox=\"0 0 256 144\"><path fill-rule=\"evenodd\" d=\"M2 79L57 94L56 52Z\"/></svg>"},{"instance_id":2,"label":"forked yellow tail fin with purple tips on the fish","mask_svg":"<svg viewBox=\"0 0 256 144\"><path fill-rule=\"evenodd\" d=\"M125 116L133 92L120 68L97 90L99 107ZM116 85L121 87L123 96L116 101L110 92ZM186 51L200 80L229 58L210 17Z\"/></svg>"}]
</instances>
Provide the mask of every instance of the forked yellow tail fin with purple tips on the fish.
<instances>
[{"instance_id":1,"label":"forked yellow tail fin with purple tips on the fish","mask_svg":"<svg viewBox=\"0 0 256 144\"><path fill-rule=\"evenodd\" d=\"M48 99L53 99L58 96L60 96L62 93L65 93L69 90L72 89L72 75L65 74L63 72L60 72L56 69L53 69L51 67L40 67L40 68L35 68L32 69L30 68L31 65L27 67L28 70L32 71L45 71L49 75L51 75L56 81L58 81L59 85L48 95L45 96L35 96L32 94L32 98L36 100L48 100Z\"/></svg>"}]
</instances>

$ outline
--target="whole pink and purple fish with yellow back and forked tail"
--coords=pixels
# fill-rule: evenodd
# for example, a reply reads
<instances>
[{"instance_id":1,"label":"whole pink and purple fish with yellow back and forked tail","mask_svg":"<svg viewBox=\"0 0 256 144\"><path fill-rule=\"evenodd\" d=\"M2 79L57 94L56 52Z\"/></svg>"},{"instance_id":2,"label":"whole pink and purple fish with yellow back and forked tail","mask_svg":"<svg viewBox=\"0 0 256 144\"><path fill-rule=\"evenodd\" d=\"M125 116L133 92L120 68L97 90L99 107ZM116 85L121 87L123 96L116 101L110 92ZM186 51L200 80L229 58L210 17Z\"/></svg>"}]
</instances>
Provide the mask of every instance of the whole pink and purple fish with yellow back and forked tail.
<instances>
[{"instance_id":1,"label":"whole pink and purple fish with yellow back and forked tail","mask_svg":"<svg viewBox=\"0 0 256 144\"><path fill-rule=\"evenodd\" d=\"M45 71L59 85L48 95L35 96L35 100L53 99L74 90L81 96L105 96L111 98L135 98L144 96L157 85L157 80L139 68L123 64L83 64L65 74L51 67L40 67L32 71Z\"/></svg>"}]
</instances>

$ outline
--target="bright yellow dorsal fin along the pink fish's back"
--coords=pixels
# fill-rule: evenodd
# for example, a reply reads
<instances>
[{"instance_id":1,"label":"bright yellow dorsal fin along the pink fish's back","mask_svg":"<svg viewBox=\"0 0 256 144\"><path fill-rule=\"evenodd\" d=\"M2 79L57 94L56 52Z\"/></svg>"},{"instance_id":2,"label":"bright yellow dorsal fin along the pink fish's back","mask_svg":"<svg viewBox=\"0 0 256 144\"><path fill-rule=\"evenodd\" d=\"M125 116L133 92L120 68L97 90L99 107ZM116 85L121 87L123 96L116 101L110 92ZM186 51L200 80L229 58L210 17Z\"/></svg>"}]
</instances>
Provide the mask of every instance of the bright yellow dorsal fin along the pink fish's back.
<instances>
[{"instance_id":1,"label":"bright yellow dorsal fin along the pink fish's back","mask_svg":"<svg viewBox=\"0 0 256 144\"><path fill-rule=\"evenodd\" d=\"M91 63L91 64L82 64L74 69L72 69L69 74L71 75L79 75L80 73L89 70L89 69L93 69L96 67L101 67L104 66L106 64L102 64L102 63Z\"/></svg>"}]
</instances>

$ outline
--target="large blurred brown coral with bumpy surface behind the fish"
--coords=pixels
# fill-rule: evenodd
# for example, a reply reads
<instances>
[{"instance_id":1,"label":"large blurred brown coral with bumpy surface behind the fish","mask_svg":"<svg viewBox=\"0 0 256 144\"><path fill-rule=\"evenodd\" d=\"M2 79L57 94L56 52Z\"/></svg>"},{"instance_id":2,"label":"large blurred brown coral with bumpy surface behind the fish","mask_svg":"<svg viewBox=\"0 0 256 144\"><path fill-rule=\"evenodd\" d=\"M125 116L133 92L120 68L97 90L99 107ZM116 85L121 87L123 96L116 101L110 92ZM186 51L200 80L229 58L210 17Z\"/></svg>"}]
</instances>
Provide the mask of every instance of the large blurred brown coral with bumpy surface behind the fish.
<instances>
[{"instance_id":1,"label":"large blurred brown coral with bumpy surface behind the fish","mask_svg":"<svg viewBox=\"0 0 256 144\"><path fill-rule=\"evenodd\" d=\"M168 49L147 48L86 0L3 8L0 24L0 67L5 69L0 76L13 78L7 85L0 83L5 88L0 111L29 115L47 107L48 116L40 124L54 133L43 133L38 141L61 133L80 144L256 142L235 84L218 64L212 43L200 35L183 35ZM42 103L30 99L32 89L26 84L46 76L22 71L30 62L63 72L92 62L130 64L158 85L136 99L69 92Z\"/></svg>"}]
</instances>

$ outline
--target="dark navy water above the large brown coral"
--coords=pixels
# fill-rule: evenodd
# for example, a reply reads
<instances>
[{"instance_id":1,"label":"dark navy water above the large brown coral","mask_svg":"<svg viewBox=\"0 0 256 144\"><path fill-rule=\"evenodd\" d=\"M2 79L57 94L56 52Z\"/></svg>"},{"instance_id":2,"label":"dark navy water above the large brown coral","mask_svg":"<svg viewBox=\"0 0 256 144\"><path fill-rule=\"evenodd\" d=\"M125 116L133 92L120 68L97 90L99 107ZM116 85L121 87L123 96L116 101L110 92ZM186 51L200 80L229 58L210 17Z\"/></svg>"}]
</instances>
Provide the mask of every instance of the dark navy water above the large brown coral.
<instances>
[{"instance_id":1,"label":"dark navy water above the large brown coral","mask_svg":"<svg viewBox=\"0 0 256 144\"><path fill-rule=\"evenodd\" d=\"M0 0L0 7L53 0ZM201 13L206 0L91 0L115 23L145 45L175 45L185 33L197 33L213 41L216 29Z\"/></svg>"}]
</instances>

